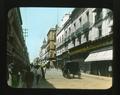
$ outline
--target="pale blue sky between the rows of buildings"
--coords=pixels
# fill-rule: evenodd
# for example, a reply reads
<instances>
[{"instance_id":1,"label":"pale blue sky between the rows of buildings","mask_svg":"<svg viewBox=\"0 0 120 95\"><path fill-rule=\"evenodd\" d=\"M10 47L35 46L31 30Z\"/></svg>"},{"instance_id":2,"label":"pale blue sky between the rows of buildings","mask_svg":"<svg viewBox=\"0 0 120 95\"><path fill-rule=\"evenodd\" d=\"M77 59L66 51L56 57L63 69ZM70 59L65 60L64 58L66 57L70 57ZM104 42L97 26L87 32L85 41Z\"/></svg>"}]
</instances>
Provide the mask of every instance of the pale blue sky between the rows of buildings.
<instances>
[{"instance_id":1,"label":"pale blue sky between the rows of buildings","mask_svg":"<svg viewBox=\"0 0 120 95\"><path fill-rule=\"evenodd\" d=\"M71 13L74 8L52 7L21 7L22 28L27 30L25 38L30 62L39 57L40 47L50 28L59 24L66 13Z\"/></svg>"}]
</instances>

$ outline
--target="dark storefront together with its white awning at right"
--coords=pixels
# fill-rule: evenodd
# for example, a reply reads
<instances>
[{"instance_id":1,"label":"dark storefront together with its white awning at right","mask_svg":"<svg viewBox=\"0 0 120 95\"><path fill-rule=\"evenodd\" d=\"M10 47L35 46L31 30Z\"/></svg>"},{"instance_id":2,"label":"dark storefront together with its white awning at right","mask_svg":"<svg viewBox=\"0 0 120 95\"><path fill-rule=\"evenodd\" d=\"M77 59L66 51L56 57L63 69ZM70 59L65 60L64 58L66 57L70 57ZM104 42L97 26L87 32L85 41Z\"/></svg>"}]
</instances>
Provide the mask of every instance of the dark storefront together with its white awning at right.
<instances>
[{"instance_id":1,"label":"dark storefront together with its white awning at right","mask_svg":"<svg viewBox=\"0 0 120 95\"><path fill-rule=\"evenodd\" d=\"M90 64L90 73L109 76L109 66L112 66L113 50L111 47L90 52L85 64Z\"/></svg>"}]
</instances>

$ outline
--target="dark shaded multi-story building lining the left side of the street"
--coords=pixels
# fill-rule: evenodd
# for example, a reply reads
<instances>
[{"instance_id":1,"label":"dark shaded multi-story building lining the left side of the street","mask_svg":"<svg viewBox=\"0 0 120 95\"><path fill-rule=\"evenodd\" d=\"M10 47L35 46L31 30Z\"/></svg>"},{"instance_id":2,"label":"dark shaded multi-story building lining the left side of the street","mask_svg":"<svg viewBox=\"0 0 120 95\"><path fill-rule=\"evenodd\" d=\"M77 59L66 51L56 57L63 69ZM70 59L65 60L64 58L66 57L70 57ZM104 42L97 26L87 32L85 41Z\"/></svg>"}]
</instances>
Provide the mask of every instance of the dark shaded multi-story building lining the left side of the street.
<instances>
[{"instance_id":1,"label":"dark shaded multi-story building lining the left side of the street","mask_svg":"<svg viewBox=\"0 0 120 95\"><path fill-rule=\"evenodd\" d=\"M14 63L14 71L21 72L30 64L23 37L22 19L19 8L8 12L7 64Z\"/></svg>"}]
</instances>

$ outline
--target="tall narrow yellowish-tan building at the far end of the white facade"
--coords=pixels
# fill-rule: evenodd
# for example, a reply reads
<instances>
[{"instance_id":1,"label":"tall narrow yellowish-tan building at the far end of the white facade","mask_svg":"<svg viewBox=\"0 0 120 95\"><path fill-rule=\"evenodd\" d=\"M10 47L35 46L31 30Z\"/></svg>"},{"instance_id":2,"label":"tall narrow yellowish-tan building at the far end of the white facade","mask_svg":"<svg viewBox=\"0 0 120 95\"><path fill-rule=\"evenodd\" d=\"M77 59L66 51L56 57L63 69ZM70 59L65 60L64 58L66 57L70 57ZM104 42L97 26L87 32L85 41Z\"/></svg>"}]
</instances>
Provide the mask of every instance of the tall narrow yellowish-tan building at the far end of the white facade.
<instances>
[{"instance_id":1,"label":"tall narrow yellowish-tan building at the far end of the white facade","mask_svg":"<svg viewBox=\"0 0 120 95\"><path fill-rule=\"evenodd\" d=\"M56 64L56 28L51 28L47 34L47 60L50 66Z\"/></svg>"}]
</instances>

